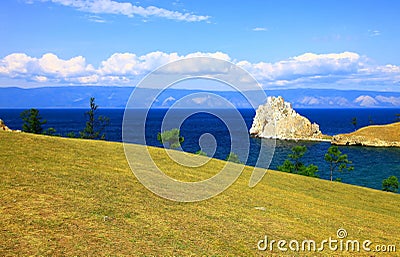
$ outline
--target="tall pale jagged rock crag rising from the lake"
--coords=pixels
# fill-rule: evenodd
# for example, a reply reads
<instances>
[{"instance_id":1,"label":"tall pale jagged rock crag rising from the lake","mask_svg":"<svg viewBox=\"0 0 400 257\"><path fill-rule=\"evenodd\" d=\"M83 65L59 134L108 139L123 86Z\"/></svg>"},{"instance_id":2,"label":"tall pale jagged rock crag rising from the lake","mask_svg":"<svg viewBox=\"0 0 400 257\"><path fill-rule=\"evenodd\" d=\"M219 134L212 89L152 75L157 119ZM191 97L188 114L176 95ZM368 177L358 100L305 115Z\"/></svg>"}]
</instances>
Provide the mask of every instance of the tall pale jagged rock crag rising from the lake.
<instances>
[{"instance_id":1,"label":"tall pale jagged rock crag rising from the lake","mask_svg":"<svg viewBox=\"0 0 400 257\"><path fill-rule=\"evenodd\" d=\"M262 138L323 140L319 125L301 116L281 96L268 97L256 111L250 134Z\"/></svg>"}]
</instances>

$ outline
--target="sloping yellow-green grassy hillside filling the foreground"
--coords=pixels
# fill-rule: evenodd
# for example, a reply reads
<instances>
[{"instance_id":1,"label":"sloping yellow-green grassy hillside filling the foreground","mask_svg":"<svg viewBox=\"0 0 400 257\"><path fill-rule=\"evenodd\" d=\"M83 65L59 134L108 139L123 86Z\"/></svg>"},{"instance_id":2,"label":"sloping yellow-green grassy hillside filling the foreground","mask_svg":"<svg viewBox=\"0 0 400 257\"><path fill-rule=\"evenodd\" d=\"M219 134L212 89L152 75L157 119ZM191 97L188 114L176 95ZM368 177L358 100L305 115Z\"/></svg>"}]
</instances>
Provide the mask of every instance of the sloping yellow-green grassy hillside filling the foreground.
<instances>
[{"instance_id":1,"label":"sloping yellow-green grassy hillside filling the foreground","mask_svg":"<svg viewBox=\"0 0 400 257\"><path fill-rule=\"evenodd\" d=\"M150 151L169 175L194 180L162 149ZM276 171L249 188L246 168L222 194L178 203L138 182L120 143L25 133L0 132L0 164L0 256L395 255L257 250L265 235L318 242L339 228L400 254L398 194ZM197 179L223 164L212 160Z\"/></svg>"}]
</instances>

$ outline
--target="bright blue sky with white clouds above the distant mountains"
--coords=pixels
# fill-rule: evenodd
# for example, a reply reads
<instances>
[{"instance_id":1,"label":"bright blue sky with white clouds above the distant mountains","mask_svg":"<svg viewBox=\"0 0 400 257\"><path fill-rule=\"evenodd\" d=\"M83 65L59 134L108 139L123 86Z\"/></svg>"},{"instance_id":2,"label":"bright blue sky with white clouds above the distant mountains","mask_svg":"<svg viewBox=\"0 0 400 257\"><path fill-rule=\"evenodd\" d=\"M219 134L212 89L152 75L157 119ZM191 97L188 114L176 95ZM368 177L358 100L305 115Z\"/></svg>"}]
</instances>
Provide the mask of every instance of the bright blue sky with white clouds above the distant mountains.
<instances>
[{"instance_id":1,"label":"bright blue sky with white clouds above the distant mountains","mask_svg":"<svg viewBox=\"0 0 400 257\"><path fill-rule=\"evenodd\" d=\"M400 92L396 0L7 0L0 87L135 86L194 56L271 89Z\"/></svg>"}]
</instances>

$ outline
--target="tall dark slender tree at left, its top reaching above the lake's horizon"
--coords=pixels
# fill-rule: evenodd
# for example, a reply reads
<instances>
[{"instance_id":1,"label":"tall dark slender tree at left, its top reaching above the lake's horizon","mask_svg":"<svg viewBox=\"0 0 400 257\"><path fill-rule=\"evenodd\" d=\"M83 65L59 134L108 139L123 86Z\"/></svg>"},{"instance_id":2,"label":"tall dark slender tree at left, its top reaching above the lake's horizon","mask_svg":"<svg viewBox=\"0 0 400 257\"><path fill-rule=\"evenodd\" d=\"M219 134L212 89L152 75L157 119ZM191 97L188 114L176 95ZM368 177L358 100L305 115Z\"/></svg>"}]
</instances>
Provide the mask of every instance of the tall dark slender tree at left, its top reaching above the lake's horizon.
<instances>
[{"instance_id":1,"label":"tall dark slender tree at left, its top reaching above the lake's horizon","mask_svg":"<svg viewBox=\"0 0 400 257\"><path fill-rule=\"evenodd\" d=\"M81 138L85 139L105 139L104 129L109 125L110 119L105 116L97 116L98 105L95 103L95 98L90 98L90 110L85 112L87 116L86 127L79 132Z\"/></svg>"}]
</instances>

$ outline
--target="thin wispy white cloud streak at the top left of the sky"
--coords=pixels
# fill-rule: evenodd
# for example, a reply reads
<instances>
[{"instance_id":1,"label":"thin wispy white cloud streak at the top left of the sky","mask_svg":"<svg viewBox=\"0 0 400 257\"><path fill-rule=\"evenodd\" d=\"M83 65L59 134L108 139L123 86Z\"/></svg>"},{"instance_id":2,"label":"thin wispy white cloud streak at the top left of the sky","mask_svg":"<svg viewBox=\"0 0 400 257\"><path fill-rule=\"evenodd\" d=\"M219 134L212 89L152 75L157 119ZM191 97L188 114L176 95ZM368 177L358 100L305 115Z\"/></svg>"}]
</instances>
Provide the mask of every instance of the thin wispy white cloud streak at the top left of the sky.
<instances>
[{"instance_id":1,"label":"thin wispy white cloud streak at the top left of the sky","mask_svg":"<svg viewBox=\"0 0 400 257\"><path fill-rule=\"evenodd\" d=\"M130 2L117 2L113 0L50 0L53 3L76 8L83 12L94 14L118 14L128 17L139 15L142 17L160 17L170 20L197 22L206 21L210 17L203 15L194 15L191 13L182 13L170 11L155 6L142 7L133 5Z\"/></svg>"}]
</instances>

